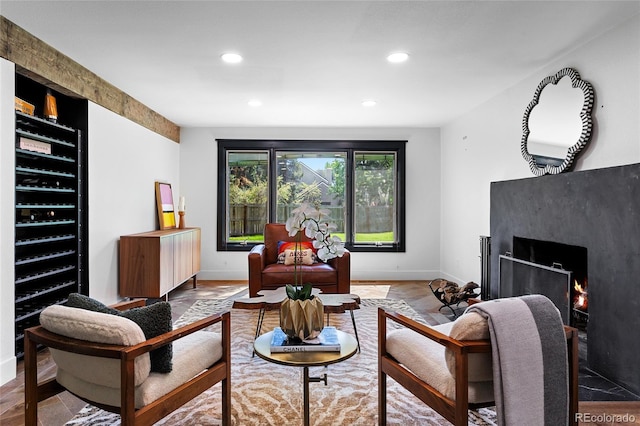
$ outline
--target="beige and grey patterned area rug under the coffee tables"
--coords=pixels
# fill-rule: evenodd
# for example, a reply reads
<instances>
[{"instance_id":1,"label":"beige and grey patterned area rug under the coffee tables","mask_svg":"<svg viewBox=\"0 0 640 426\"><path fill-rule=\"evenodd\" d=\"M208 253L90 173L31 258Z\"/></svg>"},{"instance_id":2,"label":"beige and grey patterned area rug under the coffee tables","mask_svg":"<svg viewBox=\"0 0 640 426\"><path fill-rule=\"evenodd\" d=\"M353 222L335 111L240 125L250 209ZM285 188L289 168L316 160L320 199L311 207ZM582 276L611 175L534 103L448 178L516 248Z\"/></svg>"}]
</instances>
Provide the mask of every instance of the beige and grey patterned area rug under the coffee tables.
<instances>
[{"instance_id":1,"label":"beige and grey patterned area rug under the coffee tables","mask_svg":"<svg viewBox=\"0 0 640 426\"><path fill-rule=\"evenodd\" d=\"M231 300L197 300L176 325L190 323L214 312L231 309ZM377 310L397 311L425 322L404 301L364 299L354 311L361 352L328 367L311 368L311 376L328 375L328 383L311 383L312 425L376 425L378 423ZM303 423L302 369L281 366L252 356L256 310L231 309L231 393L234 425L301 425ZM351 318L332 314L330 324L353 333ZM278 325L278 312L265 315L263 332ZM392 323L389 327L393 327ZM393 425L449 425L439 414L392 379L387 381L387 421ZM159 425L219 425L220 384L164 418ZM92 406L85 407L67 425L118 425L120 417ZM495 412L469 413L469 424L495 425Z\"/></svg>"}]
</instances>

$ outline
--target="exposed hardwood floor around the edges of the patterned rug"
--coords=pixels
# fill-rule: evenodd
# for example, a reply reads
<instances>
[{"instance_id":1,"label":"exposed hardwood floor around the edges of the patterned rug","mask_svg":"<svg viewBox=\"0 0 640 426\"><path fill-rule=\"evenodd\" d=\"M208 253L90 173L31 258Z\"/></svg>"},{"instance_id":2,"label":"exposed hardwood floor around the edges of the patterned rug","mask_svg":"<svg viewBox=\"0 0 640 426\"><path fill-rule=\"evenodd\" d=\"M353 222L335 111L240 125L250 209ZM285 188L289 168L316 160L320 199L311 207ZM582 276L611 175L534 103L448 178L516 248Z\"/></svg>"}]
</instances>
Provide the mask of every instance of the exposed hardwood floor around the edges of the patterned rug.
<instances>
[{"instance_id":1,"label":"exposed hardwood floor around the edges of the patterned rug","mask_svg":"<svg viewBox=\"0 0 640 426\"><path fill-rule=\"evenodd\" d=\"M426 281L394 281L394 282L352 282L352 293L363 299L402 299L426 319L437 323L451 320L448 310L439 312L440 303L433 296ZM247 284L238 282L198 281L197 288L192 288L191 282L183 284L169 295L174 320L178 319L197 299L236 298L248 294ZM52 377L55 367L48 353L39 353L40 379ZM39 422L41 425L64 425L86 404L64 392L39 405ZM24 370L22 362L18 364L16 379L0 387L0 424L2 426L24 425ZM604 415L632 415L632 424L640 424L640 402L581 402L580 412L588 415L588 422L581 424L605 425L612 424L612 418ZM602 421L600 421L602 420ZM614 419L615 420L615 419ZM621 422L618 422L621 423ZM624 423L622 423L624 424ZM630 424L630 423L626 423Z\"/></svg>"}]
</instances>

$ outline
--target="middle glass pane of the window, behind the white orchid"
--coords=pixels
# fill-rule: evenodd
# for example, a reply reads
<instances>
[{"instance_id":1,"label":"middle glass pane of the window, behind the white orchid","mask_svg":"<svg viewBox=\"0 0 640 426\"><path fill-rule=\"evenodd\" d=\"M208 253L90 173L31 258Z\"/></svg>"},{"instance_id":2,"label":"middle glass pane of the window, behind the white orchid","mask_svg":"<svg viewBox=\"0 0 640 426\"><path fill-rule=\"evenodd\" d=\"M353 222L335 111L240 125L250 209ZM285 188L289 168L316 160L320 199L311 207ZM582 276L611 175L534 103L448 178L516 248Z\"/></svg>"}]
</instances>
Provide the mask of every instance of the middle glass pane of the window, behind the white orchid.
<instances>
[{"instance_id":1,"label":"middle glass pane of the window, behind the white orchid","mask_svg":"<svg viewBox=\"0 0 640 426\"><path fill-rule=\"evenodd\" d=\"M345 160L344 152L277 151L276 221L286 222L291 210L308 203L329 211L344 240Z\"/></svg>"}]
</instances>

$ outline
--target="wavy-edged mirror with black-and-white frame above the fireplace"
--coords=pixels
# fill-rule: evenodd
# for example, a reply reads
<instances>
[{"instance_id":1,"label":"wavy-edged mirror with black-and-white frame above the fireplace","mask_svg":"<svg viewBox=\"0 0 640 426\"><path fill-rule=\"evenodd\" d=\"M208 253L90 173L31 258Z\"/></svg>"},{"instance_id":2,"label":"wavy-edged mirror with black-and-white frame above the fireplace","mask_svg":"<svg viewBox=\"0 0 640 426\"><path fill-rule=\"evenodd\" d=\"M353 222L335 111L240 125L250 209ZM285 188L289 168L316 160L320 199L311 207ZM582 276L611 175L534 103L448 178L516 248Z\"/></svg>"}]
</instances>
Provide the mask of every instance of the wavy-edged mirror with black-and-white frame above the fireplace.
<instances>
[{"instance_id":1,"label":"wavy-edged mirror with black-and-white frame above the fireplace","mask_svg":"<svg viewBox=\"0 0 640 426\"><path fill-rule=\"evenodd\" d=\"M572 68L544 78L522 119L522 156L536 176L568 170L591 137L593 88Z\"/></svg>"}]
</instances>

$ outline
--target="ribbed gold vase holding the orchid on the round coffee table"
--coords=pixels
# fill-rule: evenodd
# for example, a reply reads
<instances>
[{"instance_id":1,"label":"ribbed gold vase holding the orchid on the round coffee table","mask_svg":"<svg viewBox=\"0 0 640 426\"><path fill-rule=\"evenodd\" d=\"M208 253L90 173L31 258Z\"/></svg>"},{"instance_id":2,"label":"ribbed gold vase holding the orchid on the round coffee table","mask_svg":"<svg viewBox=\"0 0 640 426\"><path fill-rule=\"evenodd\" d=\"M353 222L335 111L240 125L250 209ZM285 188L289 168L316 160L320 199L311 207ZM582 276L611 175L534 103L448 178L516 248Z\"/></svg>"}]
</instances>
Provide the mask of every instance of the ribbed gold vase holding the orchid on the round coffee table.
<instances>
[{"instance_id":1,"label":"ribbed gold vase holding the orchid on the round coffee table","mask_svg":"<svg viewBox=\"0 0 640 426\"><path fill-rule=\"evenodd\" d=\"M290 343L315 339L324 327L322 300L312 294L311 284L286 285L287 298L280 304L280 328Z\"/></svg>"}]
</instances>

